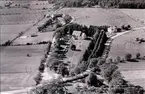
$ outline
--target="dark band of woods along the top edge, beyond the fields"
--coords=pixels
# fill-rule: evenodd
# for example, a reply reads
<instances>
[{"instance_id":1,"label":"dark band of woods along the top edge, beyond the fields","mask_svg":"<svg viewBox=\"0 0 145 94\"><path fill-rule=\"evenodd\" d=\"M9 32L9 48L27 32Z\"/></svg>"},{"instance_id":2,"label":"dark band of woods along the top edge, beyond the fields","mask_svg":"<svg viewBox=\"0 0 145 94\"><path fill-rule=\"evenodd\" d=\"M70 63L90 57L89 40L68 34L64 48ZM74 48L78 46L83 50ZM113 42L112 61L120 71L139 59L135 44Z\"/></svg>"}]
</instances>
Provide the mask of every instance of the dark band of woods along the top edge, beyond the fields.
<instances>
[{"instance_id":1,"label":"dark band of woods along the top edge, beyond the fields","mask_svg":"<svg viewBox=\"0 0 145 94\"><path fill-rule=\"evenodd\" d=\"M145 8L144 0L49 0L55 6L62 7L92 7L100 5L101 7L115 8Z\"/></svg>"}]
</instances>

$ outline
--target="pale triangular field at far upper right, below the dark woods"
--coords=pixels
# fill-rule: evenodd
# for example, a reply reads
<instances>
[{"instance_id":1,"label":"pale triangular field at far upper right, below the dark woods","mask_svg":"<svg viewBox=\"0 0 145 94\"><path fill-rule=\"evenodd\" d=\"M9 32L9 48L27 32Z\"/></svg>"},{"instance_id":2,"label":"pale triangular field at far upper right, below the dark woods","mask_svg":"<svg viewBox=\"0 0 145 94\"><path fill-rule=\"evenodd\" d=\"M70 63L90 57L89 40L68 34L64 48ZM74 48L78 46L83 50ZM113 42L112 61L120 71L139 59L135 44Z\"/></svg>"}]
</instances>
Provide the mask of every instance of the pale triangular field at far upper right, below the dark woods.
<instances>
[{"instance_id":1,"label":"pale triangular field at far upper right, below the dark woods","mask_svg":"<svg viewBox=\"0 0 145 94\"><path fill-rule=\"evenodd\" d=\"M133 19L145 24L145 10L144 9L120 9L123 13L132 17Z\"/></svg>"}]
</instances>

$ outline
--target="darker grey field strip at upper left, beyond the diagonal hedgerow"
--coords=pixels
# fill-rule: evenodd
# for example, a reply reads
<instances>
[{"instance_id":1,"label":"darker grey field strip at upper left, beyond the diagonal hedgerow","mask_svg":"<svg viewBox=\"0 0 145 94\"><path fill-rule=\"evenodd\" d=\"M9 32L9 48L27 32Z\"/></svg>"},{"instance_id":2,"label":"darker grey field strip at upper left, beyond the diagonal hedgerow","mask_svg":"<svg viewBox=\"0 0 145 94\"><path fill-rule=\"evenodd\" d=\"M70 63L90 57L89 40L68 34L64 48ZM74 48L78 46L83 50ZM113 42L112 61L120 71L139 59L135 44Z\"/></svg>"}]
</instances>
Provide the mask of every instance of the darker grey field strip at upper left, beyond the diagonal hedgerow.
<instances>
[{"instance_id":1,"label":"darker grey field strip at upper left, beyond the diagonal hedgerow","mask_svg":"<svg viewBox=\"0 0 145 94\"><path fill-rule=\"evenodd\" d=\"M1 15L0 25L7 24L29 24L35 23L39 19L44 17L45 12L36 13L24 13L24 14L12 14L12 15Z\"/></svg>"}]
</instances>

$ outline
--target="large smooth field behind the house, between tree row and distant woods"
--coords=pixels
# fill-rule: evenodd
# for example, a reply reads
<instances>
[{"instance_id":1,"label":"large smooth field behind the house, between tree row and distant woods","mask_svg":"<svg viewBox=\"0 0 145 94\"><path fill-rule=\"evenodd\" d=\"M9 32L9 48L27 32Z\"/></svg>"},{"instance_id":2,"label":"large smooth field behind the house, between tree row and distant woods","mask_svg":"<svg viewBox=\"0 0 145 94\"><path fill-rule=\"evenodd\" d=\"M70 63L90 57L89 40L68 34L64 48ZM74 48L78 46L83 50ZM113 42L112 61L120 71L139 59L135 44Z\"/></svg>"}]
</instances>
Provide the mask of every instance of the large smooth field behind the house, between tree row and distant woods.
<instances>
[{"instance_id":1,"label":"large smooth field behind the house, between tree row and distant woods","mask_svg":"<svg viewBox=\"0 0 145 94\"><path fill-rule=\"evenodd\" d=\"M75 18L75 22L85 25L116 25L130 24L138 27L141 23L128 17L118 9L102 8L64 8L60 13L68 13Z\"/></svg>"}]
</instances>

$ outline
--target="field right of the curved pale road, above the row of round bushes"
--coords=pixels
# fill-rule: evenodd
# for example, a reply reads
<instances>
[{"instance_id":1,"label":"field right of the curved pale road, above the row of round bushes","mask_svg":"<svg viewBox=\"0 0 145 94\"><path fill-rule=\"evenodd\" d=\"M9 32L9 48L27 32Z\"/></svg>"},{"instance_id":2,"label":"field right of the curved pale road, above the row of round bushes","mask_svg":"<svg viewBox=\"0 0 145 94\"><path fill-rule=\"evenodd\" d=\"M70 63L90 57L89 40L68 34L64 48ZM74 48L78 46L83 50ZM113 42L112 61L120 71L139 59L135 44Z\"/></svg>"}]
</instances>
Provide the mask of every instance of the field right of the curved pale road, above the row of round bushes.
<instances>
[{"instance_id":1,"label":"field right of the curved pale road, above the row of round bushes","mask_svg":"<svg viewBox=\"0 0 145 94\"><path fill-rule=\"evenodd\" d=\"M127 53L131 53L133 57L135 57L137 52L140 52L142 56L145 56L145 43L139 44L136 42L135 40L137 37L145 38L145 30L132 30L128 34L117 37L112 42L109 57L124 57Z\"/></svg>"}]
</instances>

